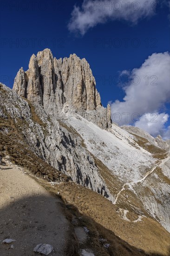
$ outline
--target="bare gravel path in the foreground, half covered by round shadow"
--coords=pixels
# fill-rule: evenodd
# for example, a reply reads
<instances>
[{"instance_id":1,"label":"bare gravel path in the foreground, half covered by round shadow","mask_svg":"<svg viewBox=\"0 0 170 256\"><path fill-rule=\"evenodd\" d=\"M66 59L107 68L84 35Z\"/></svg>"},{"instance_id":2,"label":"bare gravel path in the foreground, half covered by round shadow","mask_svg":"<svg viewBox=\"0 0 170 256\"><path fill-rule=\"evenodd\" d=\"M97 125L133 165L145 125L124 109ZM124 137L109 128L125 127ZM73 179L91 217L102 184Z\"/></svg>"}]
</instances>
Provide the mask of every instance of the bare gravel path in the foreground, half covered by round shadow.
<instances>
[{"instance_id":1,"label":"bare gravel path in the foreground, half covered by round shadow","mask_svg":"<svg viewBox=\"0 0 170 256\"><path fill-rule=\"evenodd\" d=\"M33 252L39 243L52 245L50 256L65 255L69 222L60 199L20 168L0 166L0 209L1 256L39 255ZM16 241L2 243L6 238Z\"/></svg>"}]
</instances>

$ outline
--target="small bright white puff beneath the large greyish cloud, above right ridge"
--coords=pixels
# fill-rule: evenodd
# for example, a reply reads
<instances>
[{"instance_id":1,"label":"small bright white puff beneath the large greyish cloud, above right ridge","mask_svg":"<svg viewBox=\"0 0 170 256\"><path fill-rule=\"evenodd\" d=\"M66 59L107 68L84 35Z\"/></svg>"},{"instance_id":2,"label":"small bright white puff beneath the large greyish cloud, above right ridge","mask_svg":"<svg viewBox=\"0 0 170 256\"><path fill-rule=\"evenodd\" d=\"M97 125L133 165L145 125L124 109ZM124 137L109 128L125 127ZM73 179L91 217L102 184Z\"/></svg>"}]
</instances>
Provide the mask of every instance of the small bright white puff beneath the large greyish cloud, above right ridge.
<instances>
[{"instance_id":1,"label":"small bright white puff beneath the large greyish cloud, above right ridge","mask_svg":"<svg viewBox=\"0 0 170 256\"><path fill-rule=\"evenodd\" d=\"M168 134L164 125L168 118L169 115L165 113L145 113L140 117L139 121L134 123L134 126L145 130L154 137L158 134L166 137Z\"/></svg>"}]
</instances>

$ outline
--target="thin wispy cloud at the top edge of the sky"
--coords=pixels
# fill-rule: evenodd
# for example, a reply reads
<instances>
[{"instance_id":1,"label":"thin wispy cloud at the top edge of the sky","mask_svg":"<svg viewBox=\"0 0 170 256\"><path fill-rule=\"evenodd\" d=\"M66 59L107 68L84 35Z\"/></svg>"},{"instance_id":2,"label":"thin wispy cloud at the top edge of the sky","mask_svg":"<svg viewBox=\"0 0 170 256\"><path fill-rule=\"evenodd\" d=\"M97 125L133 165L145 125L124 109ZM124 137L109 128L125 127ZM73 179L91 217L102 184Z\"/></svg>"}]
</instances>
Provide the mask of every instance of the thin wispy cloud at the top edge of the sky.
<instances>
[{"instance_id":1,"label":"thin wispy cloud at the top edge of the sky","mask_svg":"<svg viewBox=\"0 0 170 256\"><path fill-rule=\"evenodd\" d=\"M138 20L155 13L158 0L84 0L81 8L74 6L68 29L84 35L89 28L108 20Z\"/></svg>"}]
</instances>

